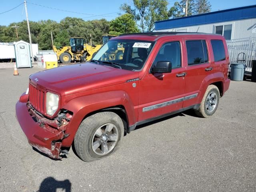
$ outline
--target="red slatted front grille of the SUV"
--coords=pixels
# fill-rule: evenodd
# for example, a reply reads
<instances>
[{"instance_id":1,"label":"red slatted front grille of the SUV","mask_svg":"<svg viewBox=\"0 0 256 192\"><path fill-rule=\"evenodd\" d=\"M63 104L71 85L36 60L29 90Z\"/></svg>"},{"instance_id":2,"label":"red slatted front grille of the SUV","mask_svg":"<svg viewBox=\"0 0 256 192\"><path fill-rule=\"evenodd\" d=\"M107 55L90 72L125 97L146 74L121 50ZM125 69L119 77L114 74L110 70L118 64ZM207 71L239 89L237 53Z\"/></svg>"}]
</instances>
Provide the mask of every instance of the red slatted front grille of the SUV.
<instances>
[{"instance_id":1,"label":"red slatted front grille of the SUV","mask_svg":"<svg viewBox=\"0 0 256 192\"><path fill-rule=\"evenodd\" d=\"M28 99L30 104L41 114L45 114L44 110L44 100L45 92L32 84L29 84L29 94Z\"/></svg>"}]
</instances>

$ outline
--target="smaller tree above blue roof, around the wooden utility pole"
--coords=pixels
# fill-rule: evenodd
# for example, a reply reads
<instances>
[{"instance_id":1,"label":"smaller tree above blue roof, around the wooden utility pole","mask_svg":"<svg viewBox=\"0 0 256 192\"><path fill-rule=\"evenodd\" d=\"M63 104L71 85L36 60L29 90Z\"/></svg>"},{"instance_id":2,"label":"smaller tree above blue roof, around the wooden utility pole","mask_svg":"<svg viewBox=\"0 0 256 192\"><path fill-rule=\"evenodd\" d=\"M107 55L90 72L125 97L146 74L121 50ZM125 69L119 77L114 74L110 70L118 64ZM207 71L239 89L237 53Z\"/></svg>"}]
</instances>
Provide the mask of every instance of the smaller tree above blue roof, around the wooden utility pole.
<instances>
[{"instance_id":1,"label":"smaller tree above blue roof, around the wooden utility pole","mask_svg":"<svg viewBox=\"0 0 256 192\"><path fill-rule=\"evenodd\" d=\"M195 12L195 3L194 0L188 0L188 16L191 16ZM172 6L169 10L169 17L171 18L179 18L185 17L185 13L183 12L183 8L186 7L186 0L181 0L180 2L175 2L174 6Z\"/></svg>"}]
</instances>

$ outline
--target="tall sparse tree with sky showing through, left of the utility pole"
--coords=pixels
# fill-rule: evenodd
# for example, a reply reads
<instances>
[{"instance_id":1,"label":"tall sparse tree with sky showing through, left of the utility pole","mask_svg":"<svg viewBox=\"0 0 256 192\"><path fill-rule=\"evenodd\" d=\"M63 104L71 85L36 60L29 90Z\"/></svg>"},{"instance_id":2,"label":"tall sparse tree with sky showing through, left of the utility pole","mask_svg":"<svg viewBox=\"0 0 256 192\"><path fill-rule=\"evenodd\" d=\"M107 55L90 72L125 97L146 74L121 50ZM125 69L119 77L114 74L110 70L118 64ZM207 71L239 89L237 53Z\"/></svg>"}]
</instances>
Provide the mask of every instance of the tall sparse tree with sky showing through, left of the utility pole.
<instances>
[{"instance_id":1,"label":"tall sparse tree with sky showing through, left of the utility pole","mask_svg":"<svg viewBox=\"0 0 256 192\"><path fill-rule=\"evenodd\" d=\"M122 4L120 9L132 14L142 32L154 30L154 22L168 19L167 0L133 0L134 9Z\"/></svg>"}]
</instances>

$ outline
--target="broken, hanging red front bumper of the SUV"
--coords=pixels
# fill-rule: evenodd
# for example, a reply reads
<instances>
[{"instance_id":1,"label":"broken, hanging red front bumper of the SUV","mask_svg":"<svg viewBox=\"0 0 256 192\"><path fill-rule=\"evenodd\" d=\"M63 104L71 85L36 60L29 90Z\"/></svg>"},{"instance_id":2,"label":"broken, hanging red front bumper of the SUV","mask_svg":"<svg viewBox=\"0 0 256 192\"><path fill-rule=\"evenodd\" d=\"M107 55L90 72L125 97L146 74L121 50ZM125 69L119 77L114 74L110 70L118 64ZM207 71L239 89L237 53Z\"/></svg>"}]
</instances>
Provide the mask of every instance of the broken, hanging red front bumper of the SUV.
<instances>
[{"instance_id":1,"label":"broken, hanging red front bumper of the SUV","mask_svg":"<svg viewBox=\"0 0 256 192\"><path fill-rule=\"evenodd\" d=\"M24 94L22 96L25 97ZM37 116L25 101L27 100L20 99L17 102L16 118L29 144L51 158L60 159L62 139L68 136L64 134L65 126L60 128L50 126L54 124L54 120Z\"/></svg>"}]
</instances>

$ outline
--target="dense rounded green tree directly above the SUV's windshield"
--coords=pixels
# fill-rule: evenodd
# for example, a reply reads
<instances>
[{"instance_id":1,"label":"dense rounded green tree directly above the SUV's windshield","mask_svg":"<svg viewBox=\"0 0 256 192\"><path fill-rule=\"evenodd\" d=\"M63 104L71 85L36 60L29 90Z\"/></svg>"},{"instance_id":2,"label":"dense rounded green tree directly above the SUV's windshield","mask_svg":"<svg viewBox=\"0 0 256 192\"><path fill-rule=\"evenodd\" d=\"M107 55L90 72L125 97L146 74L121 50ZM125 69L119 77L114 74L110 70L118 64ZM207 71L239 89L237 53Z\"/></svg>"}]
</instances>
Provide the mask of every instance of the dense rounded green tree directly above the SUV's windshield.
<instances>
[{"instance_id":1,"label":"dense rounded green tree directly above the SUV's windshield","mask_svg":"<svg viewBox=\"0 0 256 192\"><path fill-rule=\"evenodd\" d=\"M124 33L140 32L133 18L134 16L132 14L126 13L113 19L110 21L109 34L120 35Z\"/></svg>"}]
</instances>

